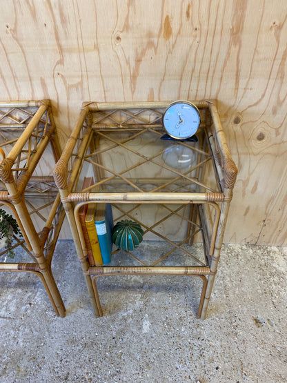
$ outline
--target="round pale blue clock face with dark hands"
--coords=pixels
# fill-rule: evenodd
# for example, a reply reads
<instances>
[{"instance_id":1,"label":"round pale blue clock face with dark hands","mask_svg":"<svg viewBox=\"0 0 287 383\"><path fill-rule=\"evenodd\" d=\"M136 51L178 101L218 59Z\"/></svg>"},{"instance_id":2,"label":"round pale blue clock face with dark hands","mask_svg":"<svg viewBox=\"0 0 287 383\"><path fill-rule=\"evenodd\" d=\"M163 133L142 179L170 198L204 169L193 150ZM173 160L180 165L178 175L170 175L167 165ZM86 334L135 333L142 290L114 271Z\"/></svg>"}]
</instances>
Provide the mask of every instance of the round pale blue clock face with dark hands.
<instances>
[{"instance_id":1,"label":"round pale blue clock face with dark hands","mask_svg":"<svg viewBox=\"0 0 287 383\"><path fill-rule=\"evenodd\" d=\"M197 132L199 110L188 101L175 101L164 112L163 124L170 137L187 139Z\"/></svg>"}]
</instances>

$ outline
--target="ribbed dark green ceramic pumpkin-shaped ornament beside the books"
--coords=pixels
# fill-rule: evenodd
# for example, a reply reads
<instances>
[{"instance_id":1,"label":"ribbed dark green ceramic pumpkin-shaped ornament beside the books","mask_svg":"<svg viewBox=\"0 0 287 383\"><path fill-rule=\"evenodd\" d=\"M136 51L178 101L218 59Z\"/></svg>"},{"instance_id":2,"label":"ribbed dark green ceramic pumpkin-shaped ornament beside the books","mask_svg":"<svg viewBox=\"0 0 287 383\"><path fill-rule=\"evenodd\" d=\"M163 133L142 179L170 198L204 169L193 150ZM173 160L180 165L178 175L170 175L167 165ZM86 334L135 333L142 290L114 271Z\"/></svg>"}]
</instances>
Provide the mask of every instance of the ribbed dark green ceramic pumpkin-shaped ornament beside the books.
<instances>
[{"instance_id":1,"label":"ribbed dark green ceramic pumpkin-shaped ornament beside the books","mask_svg":"<svg viewBox=\"0 0 287 383\"><path fill-rule=\"evenodd\" d=\"M142 240L143 230L137 222L124 219L112 229L112 242L121 250L133 250Z\"/></svg>"}]
</instances>

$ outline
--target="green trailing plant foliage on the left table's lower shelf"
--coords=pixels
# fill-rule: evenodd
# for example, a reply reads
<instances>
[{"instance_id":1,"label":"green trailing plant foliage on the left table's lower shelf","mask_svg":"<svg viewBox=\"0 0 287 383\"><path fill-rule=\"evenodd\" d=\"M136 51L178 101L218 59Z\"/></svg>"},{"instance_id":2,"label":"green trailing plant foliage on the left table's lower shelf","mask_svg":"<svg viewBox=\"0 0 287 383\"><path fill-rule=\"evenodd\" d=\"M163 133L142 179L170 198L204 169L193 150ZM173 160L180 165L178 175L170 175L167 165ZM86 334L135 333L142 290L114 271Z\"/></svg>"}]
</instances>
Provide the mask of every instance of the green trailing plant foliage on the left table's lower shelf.
<instances>
[{"instance_id":1,"label":"green trailing plant foliage on the left table's lower shelf","mask_svg":"<svg viewBox=\"0 0 287 383\"><path fill-rule=\"evenodd\" d=\"M22 237L16 219L0 208L0 248L5 246L6 254L10 258L15 255L14 251L12 251L13 233Z\"/></svg>"}]
</instances>

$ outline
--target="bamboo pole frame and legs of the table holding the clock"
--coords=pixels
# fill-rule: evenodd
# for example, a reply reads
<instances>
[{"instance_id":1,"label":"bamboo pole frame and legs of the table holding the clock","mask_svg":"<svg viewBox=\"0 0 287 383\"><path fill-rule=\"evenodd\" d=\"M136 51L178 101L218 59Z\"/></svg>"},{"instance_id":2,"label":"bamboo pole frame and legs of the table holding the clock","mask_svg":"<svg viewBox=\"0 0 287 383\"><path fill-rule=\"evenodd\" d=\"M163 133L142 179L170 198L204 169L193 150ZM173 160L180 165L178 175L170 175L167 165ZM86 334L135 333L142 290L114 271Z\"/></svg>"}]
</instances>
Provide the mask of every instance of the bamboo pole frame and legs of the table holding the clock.
<instances>
[{"instance_id":1,"label":"bamboo pole frame and legs of the table holding the clock","mask_svg":"<svg viewBox=\"0 0 287 383\"><path fill-rule=\"evenodd\" d=\"M214 172L215 182L217 184L216 190L205 184L201 184L199 175L201 175L204 166L199 166L197 168L197 181L195 180L195 184L197 184L201 190L199 193L162 193L160 191L144 193L142 190L139 192L124 193L91 193L91 188L89 190L81 190L80 192L77 191L77 188L79 188L79 185L77 185L79 175L83 163L87 159L88 148L90 148L90 150L96 150L95 153L99 155L99 150L95 148L95 141L91 139L95 131L101 132L104 130L112 131L123 129L161 131L162 124L160 118L146 121L146 119L140 116L145 110L152 110L161 115L170 104L170 101L84 103L79 119L68 139L66 148L63 150L61 158L55 166L55 182L59 188L61 201L66 210L77 256L86 279L92 306L97 316L103 315L96 285L96 279L98 277L112 275L188 275L199 277L203 282L197 317L201 319L205 319L206 317L208 302L217 273L221 244L224 238L228 210L232 199L232 189L237 177L237 168L228 149L215 101L203 100L192 101L192 103L199 108L201 113L200 128L204 130L204 145L206 145L210 153L211 168ZM119 115L119 111L122 111L123 114L127 116L126 120L117 121L116 118L111 117L112 113ZM99 118L99 115L103 115L105 119ZM130 123L130 121L132 122ZM118 144L124 146L123 143ZM201 149L199 149L199 153L200 150ZM153 159L149 158L148 161L153 161ZM94 186L99 186L99 184L104 181L101 181L101 177L103 177L103 171L106 171L107 168L105 164L102 164L100 156L94 161L93 165L96 179ZM172 169L169 168L169 170ZM115 175L120 179L124 178L122 174L115 173ZM125 181L137 188L137 181L130 179L125 179ZM205 188L204 193L202 192L202 188ZM110 202L117 206L120 204L188 204L190 206L190 217L193 219L193 221L191 219L190 222L199 221L201 227L204 251L206 252L206 265L89 266L78 213L79 208L83 204L95 202ZM210 211L208 211L210 206L215 212L214 217L211 217ZM194 231L194 227L189 226L188 230L192 232L192 230ZM190 239L190 243L192 243L192 239Z\"/></svg>"}]
</instances>

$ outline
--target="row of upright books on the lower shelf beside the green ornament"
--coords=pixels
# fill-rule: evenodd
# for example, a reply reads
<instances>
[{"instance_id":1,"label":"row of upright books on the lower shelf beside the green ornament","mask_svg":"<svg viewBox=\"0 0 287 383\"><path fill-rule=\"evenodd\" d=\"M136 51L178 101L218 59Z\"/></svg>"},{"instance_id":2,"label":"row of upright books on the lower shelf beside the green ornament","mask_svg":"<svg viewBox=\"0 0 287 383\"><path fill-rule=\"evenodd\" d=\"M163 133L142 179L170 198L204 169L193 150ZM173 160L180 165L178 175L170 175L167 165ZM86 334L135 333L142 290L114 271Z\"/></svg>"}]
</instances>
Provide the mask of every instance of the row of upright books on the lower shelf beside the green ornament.
<instances>
[{"instance_id":1,"label":"row of upright books on the lower shelf beside the green ornament","mask_svg":"<svg viewBox=\"0 0 287 383\"><path fill-rule=\"evenodd\" d=\"M92 177L85 177L83 189L94 183ZM86 243L90 266L109 264L112 259L112 206L90 203L81 206L79 220Z\"/></svg>"}]
</instances>

